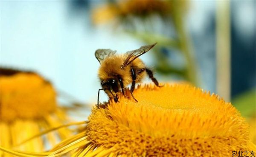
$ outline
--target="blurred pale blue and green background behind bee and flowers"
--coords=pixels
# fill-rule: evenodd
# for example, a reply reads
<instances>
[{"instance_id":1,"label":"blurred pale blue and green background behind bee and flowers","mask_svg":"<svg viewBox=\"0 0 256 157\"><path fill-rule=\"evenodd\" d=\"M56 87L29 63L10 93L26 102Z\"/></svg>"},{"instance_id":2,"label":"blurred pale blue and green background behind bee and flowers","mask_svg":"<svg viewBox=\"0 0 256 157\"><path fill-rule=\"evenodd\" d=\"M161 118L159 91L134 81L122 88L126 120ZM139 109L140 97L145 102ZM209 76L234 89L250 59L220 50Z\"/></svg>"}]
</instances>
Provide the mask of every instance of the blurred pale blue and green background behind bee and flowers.
<instances>
[{"instance_id":1,"label":"blurred pale blue and green background behind bee and flowers","mask_svg":"<svg viewBox=\"0 0 256 157\"><path fill-rule=\"evenodd\" d=\"M256 126L255 0L0 1L0 66L36 71L81 103L96 104L96 49L154 42L141 58L157 80L217 93Z\"/></svg>"}]
</instances>

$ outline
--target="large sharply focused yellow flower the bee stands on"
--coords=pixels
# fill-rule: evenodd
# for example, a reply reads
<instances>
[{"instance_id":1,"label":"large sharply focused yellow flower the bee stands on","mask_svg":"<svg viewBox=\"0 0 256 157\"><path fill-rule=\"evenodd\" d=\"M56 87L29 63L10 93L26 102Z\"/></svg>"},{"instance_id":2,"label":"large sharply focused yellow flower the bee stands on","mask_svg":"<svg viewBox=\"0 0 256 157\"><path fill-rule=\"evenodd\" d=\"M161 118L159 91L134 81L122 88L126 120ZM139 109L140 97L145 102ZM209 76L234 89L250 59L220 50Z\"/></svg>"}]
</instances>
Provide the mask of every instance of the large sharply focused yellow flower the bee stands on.
<instances>
[{"instance_id":1,"label":"large sharply focused yellow flower the bee stands on","mask_svg":"<svg viewBox=\"0 0 256 157\"><path fill-rule=\"evenodd\" d=\"M215 94L186 84L138 87L93 108L84 131L62 141L50 157L224 157L255 151L239 111Z\"/></svg>"}]
</instances>

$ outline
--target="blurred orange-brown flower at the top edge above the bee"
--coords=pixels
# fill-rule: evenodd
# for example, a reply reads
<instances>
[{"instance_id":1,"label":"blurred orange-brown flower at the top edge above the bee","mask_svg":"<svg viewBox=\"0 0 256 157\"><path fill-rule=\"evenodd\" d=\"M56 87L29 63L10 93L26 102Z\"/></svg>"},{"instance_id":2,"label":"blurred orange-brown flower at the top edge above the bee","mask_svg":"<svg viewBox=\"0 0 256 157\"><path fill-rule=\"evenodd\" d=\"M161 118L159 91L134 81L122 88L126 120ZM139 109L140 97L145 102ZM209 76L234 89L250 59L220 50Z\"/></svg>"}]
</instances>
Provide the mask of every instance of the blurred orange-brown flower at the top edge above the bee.
<instances>
[{"instance_id":1,"label":"blurred orange-brown flower at the top edge above the bee","mask_svg":"<svg viewBox=\"0 0 256 157\"><path fill-rule=\"evenodd\" d=\"M93 10L93 23L107 23L115 19L128 19L134 17L146 17L151 14L159 14L161 17L169 16L172 7L181 7L186 10L187 1L166 0L119 0L116 3L96 8Z\"/></svg>"}]
</instances>

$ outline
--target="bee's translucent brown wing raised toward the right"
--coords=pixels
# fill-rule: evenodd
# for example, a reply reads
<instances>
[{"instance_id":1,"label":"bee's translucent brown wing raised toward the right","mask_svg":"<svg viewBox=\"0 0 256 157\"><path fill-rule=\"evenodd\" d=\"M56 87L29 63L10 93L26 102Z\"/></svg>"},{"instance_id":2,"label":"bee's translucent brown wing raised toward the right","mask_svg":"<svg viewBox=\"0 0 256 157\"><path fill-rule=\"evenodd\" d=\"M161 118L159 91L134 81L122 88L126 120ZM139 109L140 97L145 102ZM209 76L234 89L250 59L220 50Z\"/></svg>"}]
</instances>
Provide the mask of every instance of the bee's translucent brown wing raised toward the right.
<instances>
[{"instance_id":1,"label":"bee's translucent brown wing raised toward the right","mask_svg":"<svg viewBox=\"0 0 256 157\"><path fill-rule=\"evenodd\" d=\"M147 51L152 49L157 43L151 44L151 45L145 45L141 46L140 49L136 49L133 51L126 52L127 58L125 59L123 66L128 66L130 63L132 63L136 58L140 57L141 55L145 54Z\"/></svg>"}]
</instances>

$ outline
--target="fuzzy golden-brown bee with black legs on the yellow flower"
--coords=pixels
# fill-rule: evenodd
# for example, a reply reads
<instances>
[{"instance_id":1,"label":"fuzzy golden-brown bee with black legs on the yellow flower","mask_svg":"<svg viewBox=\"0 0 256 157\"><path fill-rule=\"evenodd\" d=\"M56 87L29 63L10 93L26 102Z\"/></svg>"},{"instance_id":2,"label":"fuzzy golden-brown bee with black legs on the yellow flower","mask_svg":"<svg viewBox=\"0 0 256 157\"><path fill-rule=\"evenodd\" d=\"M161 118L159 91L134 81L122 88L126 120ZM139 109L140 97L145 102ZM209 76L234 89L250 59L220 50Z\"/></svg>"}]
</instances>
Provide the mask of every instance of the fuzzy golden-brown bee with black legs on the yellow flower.
<instances>
[{"instance_id":1,"label":"fuzzy golden-brown bee with black legs on the yellow flower","mask_svg":"<svg viewBox=\"0 0 256 157\"><path fill-rule=\"evenodd\" d=\"M128 51L125 54L116 54L116 51L111 49L97 49L95 51L95 57L100 63L98 77L102 86L99 91L104 90L109 98L113 98L115 102L118 102L118 94L120 94L120 92L122 92L125 97L128 97L125 95L125 91L127 86L131 85L131 96L138 102L133 96L133 91L135 84L140 83L146 74L148 74L148 77L156 86L160 87L153 76L153 72L148 69L139 58L156 44L157 43L141 46L140 49Z\"/></svg>"}]
</instances>

